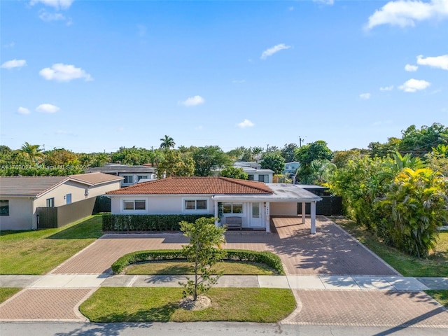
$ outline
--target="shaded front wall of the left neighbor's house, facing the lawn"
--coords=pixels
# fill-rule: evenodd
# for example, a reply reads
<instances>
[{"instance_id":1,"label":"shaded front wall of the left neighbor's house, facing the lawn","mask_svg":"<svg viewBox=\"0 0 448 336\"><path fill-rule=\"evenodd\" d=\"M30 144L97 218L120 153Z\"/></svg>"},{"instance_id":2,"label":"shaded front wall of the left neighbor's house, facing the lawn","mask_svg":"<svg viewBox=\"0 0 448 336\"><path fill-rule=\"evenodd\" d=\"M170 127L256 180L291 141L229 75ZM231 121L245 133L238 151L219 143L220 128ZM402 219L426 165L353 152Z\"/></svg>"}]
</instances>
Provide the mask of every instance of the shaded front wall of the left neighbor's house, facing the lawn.
<instances>
[{"instance_id":1,"label":"shaded front wall of the left neighbor's house, facing the lawn","mask_svg":"<svg viewBox=\"0 0 448 336\"><path fill-rule=\"evenodd\" d=\"M0 216L0 230L33 229L33 200L29 197L1 197L9 201L9 216Z\"/></svg>"}]
</instances>

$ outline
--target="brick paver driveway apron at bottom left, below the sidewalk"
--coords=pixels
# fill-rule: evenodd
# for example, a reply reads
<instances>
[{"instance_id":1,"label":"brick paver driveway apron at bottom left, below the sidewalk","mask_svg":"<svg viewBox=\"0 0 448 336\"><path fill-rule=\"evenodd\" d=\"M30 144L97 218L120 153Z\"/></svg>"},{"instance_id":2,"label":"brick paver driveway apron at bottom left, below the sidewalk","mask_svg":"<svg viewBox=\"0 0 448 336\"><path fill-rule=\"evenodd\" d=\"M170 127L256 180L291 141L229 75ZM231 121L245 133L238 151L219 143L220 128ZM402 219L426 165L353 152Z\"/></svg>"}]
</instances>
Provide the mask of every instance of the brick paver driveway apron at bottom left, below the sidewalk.
<instances>
[{"instance_id":1,"label":"brick paver driveway apron at bottom left, below the sidewalk","mask_svg":"<svg viewBox=\"0 0 448 336\"><path fill-rule=\"evenodd\" d=\"M25 289L0 305L0 320L86 321L78 304L91 288Z\"/></svg>"}]
</instances>

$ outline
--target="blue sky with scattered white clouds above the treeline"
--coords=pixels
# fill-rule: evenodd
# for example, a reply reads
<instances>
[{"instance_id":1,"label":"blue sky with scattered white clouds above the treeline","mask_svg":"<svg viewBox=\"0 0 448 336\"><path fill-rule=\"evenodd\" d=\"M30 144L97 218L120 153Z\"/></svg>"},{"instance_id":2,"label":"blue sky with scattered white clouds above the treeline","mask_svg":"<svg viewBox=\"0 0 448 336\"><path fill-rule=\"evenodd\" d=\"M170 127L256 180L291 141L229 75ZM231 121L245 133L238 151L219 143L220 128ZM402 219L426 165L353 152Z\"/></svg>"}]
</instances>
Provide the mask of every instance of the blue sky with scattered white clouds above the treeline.
<instances>
[{"instance_id":1,"label":"blue sky with scattered white clouds above the treeline","mask_svg":"<svg viewBox=\"0 0 448 336\"><path fill-rule=\"evenodd\" d=\"M333 151L448 125L448 0L1 1L1 144Z\"/></svg>"}]
</instances>

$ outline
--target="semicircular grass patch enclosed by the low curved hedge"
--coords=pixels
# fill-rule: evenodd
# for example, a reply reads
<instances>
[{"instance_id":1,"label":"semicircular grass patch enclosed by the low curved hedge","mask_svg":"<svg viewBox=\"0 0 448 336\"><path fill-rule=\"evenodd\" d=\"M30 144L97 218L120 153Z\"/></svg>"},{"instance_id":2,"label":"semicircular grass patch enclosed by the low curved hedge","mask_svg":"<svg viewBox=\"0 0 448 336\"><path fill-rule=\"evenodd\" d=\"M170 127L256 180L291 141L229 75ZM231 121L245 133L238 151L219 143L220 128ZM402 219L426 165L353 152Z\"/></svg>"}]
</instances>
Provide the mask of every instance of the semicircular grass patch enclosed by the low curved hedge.
<instances>
[{"instance_id":1,"label":"semicircular grass patch enclosed by the low curved hedge","mask_svg":"<svg viewBox=\"0 0 448 336\"><path fill-rule=\"evenodd\" d=\"M194 274L191 263L186 261L158 260L134 264L127 267L125 274L152 275L190 275ZM224 261L217 262L214 274L223 272L224 275L274 275L274 269L256 262Z\"/></svg>"}]
</instances>

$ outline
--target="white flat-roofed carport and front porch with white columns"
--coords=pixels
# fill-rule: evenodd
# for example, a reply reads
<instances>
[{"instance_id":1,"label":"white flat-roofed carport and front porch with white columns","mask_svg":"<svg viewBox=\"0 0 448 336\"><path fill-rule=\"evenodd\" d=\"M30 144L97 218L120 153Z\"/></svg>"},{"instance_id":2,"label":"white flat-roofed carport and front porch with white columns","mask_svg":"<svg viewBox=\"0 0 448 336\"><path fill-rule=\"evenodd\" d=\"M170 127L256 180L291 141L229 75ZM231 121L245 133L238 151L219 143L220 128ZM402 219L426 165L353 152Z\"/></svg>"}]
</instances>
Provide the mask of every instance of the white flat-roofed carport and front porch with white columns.
<instances>
[{"instance_id":1,"label":"white flat-roofed carport and front porch with white columns","mask_svg":"<svg viewBox=\"0 0 448 336\"><path fill-rule=\"evenodd\" d=\"M290 183L266 183L272 190L270 195L214 195L215 217L218 216L218 203L243 204L241 216L246 223L258 223L256 228L269 232L270 216L297 216L297 204L302 204L302 223L305 223L305 204L311 208L311 234L316 233L316 202L321 197Z\"/></svg>"}]
</instances>

